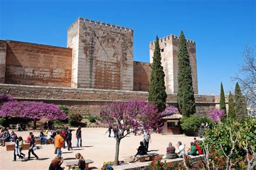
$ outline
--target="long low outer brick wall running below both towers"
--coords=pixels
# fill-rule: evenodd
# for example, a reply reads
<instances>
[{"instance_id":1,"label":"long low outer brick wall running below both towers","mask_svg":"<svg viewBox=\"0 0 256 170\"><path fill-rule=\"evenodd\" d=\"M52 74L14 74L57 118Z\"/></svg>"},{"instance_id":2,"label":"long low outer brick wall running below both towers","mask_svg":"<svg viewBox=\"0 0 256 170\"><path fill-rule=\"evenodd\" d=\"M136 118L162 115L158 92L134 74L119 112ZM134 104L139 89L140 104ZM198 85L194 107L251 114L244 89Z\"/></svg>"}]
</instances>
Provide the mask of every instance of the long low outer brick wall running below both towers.
<instances>
[{"instance_id":1,"label":"long low outer brick wall running below both towers","mask_svg":"<svg viewBox=\"0 0 256 170\"><path fill-rule=\"evenodd\" d=\"M43 101L67 105L71 112L98 115L99 107L112 101L147 100L144 91L60 88L0 84L0 94L9 94L19 101ZM205 117L211 108L219 108L219 95L195 95L197 115ZM177 94L167 94L167 103L177 106ZM226 96L226 105L228 103Z\"/></svg>"}]
</instances>

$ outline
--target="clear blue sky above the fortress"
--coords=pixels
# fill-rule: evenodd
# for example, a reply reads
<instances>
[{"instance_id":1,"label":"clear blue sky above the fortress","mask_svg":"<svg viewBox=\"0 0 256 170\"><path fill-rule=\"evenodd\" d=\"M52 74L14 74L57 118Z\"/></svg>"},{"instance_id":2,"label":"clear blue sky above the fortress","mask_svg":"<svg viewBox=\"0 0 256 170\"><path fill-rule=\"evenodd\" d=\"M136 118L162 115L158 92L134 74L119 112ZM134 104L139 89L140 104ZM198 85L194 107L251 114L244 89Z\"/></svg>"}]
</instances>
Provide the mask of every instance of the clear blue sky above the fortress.
<instances>
[{"instance_id":1,"label":"clear blue sky above the fortress","mask_svg":"<svg viewBox=\"0 0 256 170\"><path fill-rule=\"evenodd\" d=\"M134 30L134 60L149 62L156 35L196 41L199 94L234 89L246 44L255 45L255 1L12 1L0 0L0 39L66 47L78 18Z\"/></svg>"}]
</instances>

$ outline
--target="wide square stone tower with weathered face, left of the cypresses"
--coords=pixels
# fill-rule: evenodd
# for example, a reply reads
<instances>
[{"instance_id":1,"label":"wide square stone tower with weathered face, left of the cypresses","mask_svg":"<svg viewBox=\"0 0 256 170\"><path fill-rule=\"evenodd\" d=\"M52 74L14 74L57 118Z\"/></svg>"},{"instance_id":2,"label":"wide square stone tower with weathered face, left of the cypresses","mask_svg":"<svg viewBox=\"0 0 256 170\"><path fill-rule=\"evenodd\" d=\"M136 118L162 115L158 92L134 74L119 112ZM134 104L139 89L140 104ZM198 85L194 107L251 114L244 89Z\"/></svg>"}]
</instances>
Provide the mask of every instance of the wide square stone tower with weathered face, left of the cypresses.
<instances>
[{"instance_id":1,"label":"wide square stone tower with weathered face, left of the cypresses","mask_svg":"<svg viewBox=\"0 0 256 170\"><path fill-rule=\"evenodd\" d=\"M68 29L72 88L133 90L133 30L78 18Z\"/></svg>"}]
</instances>

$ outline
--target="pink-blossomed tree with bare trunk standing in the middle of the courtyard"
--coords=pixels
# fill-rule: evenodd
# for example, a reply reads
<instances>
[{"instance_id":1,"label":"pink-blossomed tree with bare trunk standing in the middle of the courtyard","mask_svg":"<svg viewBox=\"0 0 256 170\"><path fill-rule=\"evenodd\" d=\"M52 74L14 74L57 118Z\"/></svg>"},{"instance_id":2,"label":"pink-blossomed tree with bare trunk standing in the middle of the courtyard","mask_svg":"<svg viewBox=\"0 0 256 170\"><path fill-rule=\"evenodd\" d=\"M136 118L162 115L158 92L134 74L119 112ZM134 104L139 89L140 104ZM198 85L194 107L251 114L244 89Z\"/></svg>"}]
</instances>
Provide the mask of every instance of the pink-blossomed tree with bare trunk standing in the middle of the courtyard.
<instances>
[{"instance_id":1,"label":"pink-blossomed tree with bare trunk standing in the middle of the courtyard","mask_svg":"<svg viewBox=\"0 0 256 170\"><path fill-rule=\"evenodd\" d=\"M120 141L128 134L124 134L125 130L131 129L130 133L161 131L163 124L159 122L164 114L145 101L113 102L100 109L100 122L117 132L114 165L118 164Z\"/></svg>"}]
</instances>

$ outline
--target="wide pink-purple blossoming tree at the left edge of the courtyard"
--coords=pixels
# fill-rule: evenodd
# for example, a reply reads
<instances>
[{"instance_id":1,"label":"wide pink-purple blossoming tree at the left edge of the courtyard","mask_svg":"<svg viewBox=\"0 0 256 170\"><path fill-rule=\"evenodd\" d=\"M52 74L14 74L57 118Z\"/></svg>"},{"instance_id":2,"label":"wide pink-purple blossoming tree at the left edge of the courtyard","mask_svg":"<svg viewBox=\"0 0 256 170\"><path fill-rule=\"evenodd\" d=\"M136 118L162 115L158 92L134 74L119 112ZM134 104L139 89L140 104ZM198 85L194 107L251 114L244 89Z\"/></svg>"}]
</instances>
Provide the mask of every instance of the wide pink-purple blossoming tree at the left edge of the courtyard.
<instances>
[{"instance_id":1,"label":"wide pink-purple blossoming tree at the left edge of the courtyard","mask_svg":"<svg viewBox=\"0 0 256 170\"><path fill-rule=\"evenodd\" d=\"M66 119L66 115L58 108L58 105L30 101L10 101L4 103L0 109L0 117L32 119L34 129L36 129L36 121L42 118L49 120Z\"/></svg>"}]
</instances>

